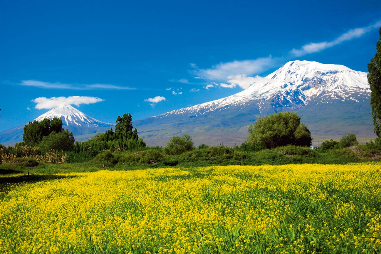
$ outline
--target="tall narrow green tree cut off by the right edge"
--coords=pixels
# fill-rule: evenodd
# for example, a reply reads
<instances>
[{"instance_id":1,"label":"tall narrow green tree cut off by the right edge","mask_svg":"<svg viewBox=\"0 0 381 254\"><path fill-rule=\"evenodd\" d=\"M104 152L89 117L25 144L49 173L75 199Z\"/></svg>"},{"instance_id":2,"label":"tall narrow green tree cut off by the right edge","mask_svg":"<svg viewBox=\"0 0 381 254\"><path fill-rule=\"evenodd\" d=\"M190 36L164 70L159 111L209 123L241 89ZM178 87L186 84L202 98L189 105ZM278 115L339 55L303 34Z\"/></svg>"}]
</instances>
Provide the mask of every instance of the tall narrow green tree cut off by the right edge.
<instances>
[{"instance_id":1,"label":"tall narrow green tree cut off by the right edge","mask_svg":"<svg viewBox=\"0 0 381 254\"><path fill-rule=\"evenodd\" d=\"M370 107L377 137L380 137L381 134L381 27L379 35L380 40L376 44L375 57L368 64L368 83L371 90Z\"/></svg>"}]
</instances>

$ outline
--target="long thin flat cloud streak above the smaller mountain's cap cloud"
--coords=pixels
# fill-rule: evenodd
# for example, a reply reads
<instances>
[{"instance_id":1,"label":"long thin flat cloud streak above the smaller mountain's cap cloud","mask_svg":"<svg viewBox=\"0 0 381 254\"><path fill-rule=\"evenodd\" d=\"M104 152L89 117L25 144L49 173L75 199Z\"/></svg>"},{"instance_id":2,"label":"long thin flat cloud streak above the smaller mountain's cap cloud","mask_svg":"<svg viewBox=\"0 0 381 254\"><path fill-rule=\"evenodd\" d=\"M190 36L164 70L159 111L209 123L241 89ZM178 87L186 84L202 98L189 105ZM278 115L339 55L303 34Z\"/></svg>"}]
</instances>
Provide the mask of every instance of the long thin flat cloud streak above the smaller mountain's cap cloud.
<instances>
[{"instance_id":1,"label":"long thin flat cloud streak above the smaller mountain's cap cloud","mask_svg":"<svg viewBox=\"0 0 381 254\"><path fill-rule=\"evenodd\" d=\"M22 80L20 85L22 86L34 86L47 89L73 89L73 90L93 90L93 89L117 89L117 90L134 90L136 88L130 88L127 86L116 86L110 84L65 84L65 83L50 83L38 80Z\"/></svg>"}]
</instances>

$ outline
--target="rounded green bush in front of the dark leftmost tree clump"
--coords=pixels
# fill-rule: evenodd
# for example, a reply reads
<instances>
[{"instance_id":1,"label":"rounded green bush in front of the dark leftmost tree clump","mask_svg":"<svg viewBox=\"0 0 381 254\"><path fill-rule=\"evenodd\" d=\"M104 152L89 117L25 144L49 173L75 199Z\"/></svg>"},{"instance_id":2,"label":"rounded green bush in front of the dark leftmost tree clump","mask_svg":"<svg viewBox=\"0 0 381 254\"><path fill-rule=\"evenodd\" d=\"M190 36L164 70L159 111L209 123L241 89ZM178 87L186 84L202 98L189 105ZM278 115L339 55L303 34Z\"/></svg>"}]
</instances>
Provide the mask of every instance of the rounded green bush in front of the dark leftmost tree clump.
<instances>
[{"instance_id":1,"label":"rounded green bush in front of the dark leftmost tree clump","mask_svg":"<svg viewBox=\"0 0 381 254\"><path fill-rule=\"evenodd\" d=\"M73 133L68 130L56 133L52 131L48 136L42 138L39 147L43 152L50 150L56 151L70 151L74 148Z\"/></svg>"}]
</instances>

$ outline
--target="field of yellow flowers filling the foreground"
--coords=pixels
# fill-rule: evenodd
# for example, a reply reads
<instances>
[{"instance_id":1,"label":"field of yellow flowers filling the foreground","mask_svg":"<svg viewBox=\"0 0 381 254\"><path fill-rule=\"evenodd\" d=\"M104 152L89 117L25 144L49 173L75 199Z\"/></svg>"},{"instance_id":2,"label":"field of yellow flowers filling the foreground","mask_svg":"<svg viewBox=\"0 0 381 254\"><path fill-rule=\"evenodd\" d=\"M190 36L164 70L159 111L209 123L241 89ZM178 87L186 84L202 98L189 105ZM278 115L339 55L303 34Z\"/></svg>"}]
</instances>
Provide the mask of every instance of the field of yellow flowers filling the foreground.
<instances>
[{"instance_id":1,"label":"field of yellow flowers filling the foreground","mask_svg":"<svg viewBox=\"0 0 381 254\"><path fill-rule=\"evenodd\" d=\"M379 163L61 174L3 188L0 253L378 253L380 209Z\"/></svg>"}]
</instances>

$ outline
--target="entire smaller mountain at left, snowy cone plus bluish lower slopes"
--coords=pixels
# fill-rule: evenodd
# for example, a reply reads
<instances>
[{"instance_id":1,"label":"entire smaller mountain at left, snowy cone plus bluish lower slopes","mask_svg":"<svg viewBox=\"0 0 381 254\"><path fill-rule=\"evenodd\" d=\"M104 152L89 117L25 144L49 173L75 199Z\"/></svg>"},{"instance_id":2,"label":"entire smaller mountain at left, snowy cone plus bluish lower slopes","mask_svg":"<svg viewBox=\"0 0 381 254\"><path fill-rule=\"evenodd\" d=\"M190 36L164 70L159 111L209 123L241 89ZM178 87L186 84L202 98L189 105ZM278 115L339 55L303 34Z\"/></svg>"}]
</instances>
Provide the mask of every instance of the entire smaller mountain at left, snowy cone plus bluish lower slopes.
<instances>
[{"instance_id":1,"label":"entire smaller mountain at left, snowy cone plus bluish lower slopes","mask_svg":"<svg viewBox=\"0 0 381 254\"><path fill-rule=\"evenodd\" d=\"M107 131L107 129L115 125L98 121L70 105L54 107L35 120L41 121L45 118L51 120L54 117L61 118L62 128L71 131L76 136L76 140L86 140L92 137L94 133ZM13 145L16 142L21 142L24 126L25 124L1 132L0 144Z\"/></svg>"}]
</instances>

